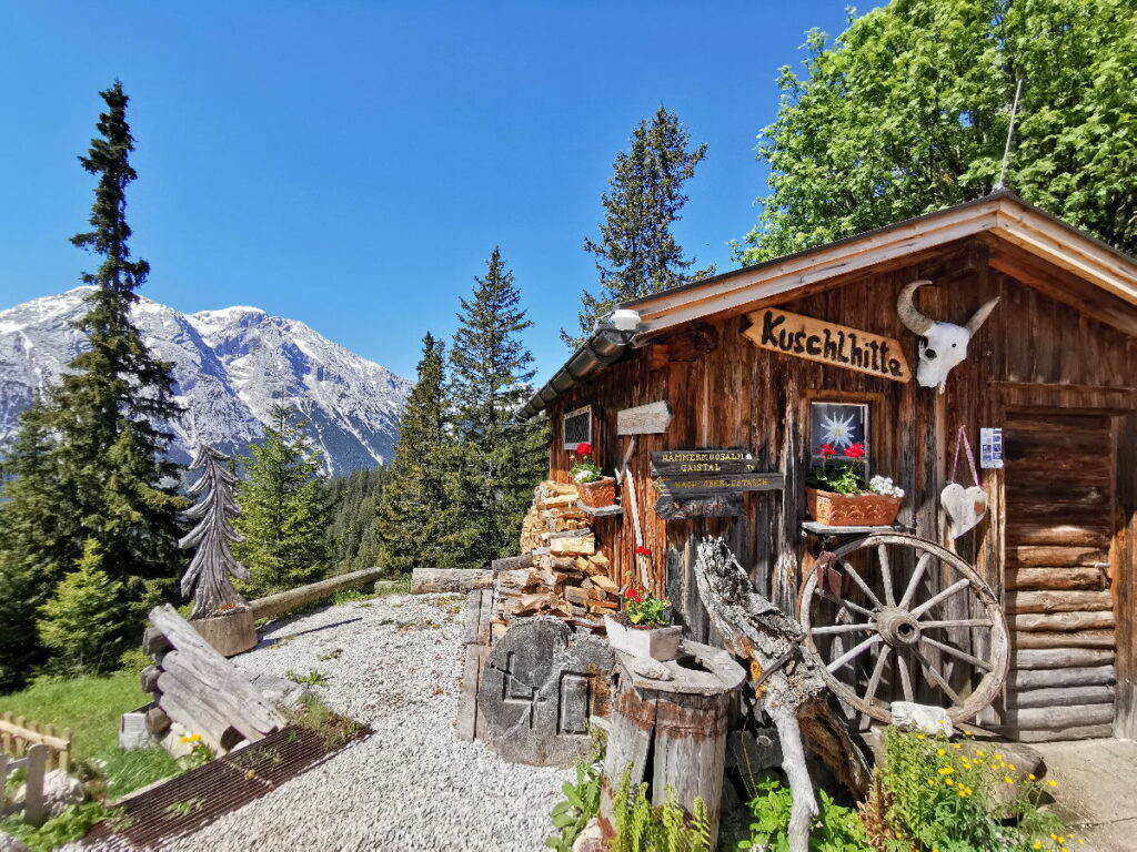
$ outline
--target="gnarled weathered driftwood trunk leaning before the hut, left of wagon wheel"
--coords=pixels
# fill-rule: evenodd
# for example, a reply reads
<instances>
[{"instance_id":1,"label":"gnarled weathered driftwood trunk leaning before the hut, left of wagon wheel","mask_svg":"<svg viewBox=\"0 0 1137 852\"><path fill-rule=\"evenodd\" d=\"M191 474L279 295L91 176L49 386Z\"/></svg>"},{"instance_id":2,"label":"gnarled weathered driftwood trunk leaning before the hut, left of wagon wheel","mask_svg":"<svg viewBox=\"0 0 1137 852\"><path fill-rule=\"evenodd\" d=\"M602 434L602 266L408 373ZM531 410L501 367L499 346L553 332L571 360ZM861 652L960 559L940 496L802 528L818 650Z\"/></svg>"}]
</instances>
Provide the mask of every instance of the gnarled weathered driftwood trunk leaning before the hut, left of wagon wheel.
<instances>
[{"instance_id":1,"label":"gnarled weathered driftwood trunk leaning before the hut, left of wagon wheel","mask_svg":"<svg viewBox=\"0 0 1137 852\"><path fill-rule=\"evenodd\" d=\"M727 650L750 660L755 694L778 728L782 769L794 794L790 852L807 852L818 802L805 765L803 734L856 793L868 785L864 757L829 709L821 663L805 645L805 630L755 591L722 538L708 536L699 543L695 577L703 605Z\"/></svg>"}]
</instances>

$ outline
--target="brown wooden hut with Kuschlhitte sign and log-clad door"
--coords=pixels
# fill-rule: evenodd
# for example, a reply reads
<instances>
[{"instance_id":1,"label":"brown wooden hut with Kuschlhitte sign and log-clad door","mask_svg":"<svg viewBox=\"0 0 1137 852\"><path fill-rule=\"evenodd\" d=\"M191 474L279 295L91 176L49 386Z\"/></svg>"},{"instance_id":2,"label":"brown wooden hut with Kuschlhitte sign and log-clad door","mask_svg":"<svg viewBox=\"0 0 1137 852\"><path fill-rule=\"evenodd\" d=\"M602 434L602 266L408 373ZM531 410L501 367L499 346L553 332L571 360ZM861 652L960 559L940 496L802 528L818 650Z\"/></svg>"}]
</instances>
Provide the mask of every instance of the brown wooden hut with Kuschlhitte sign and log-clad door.
<instances>
[{"instance_id":1,"label":"brown wooden hut with Kuschlhitte sign and log-clad door","mask_svg":"<svg viewBox=\"0 0 1137 852\"><path fill-rule=\"evenodd\" d=\"M920 279L930 285L905 302ZM898 302L915 309L918 325L962 328L995 299L943 389L921 386L921 362L935 373L932 361L951 357L931 344L953 343L914 333ZM639 536L656 588L692 638L713 642L692 560L702 536L722 536L785 610L808 618L803 590L825 599L812 616L814 627L831 628L819 650L854 693L872 686L870 704L936 702L941 686L965 702L995 669L984 682L997 688L981 726L1024 741L1137 735L1137 262L998 193L621 309L636 311L634 328L599 325L518 411L548 414L551 478L568 479L579 441L606 470L626 468L623 511L595 519L614 580L640 570ZM919 550L893 556L885 569L870 552L852 558L858 579L875 583L881 599L886 580L890 598L895 587L896 598L932 601L923 617L947 624L923 627L912 648L940 674L912 654L902 662L905 649L893 642L869 642L863 659L839 661L860 644L856 613L878 608L839 565L816 562L850 541L811 525L806 507L820 444L836 443L836 433L864 444L857 463L866 475L904 490L893 529L943 548L986 583L1005 613L1009 648L998 646L981 595L953 598L941 551L930 562ZM987 512L956 537L941 492L961 436L973 448ZM961 446L954 481L971 487L965 457ZM895 669L882 675L886 648Z\"/></svg>"}]
</instances>

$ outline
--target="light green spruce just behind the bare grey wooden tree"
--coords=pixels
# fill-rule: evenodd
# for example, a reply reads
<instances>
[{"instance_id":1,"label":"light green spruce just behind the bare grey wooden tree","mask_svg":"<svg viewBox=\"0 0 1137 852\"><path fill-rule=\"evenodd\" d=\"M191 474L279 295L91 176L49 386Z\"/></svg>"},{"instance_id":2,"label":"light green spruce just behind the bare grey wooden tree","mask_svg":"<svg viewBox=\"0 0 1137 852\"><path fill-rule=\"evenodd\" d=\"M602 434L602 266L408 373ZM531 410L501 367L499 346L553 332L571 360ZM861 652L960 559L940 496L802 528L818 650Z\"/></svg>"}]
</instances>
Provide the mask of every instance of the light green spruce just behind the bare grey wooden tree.
<instances>
[{"instance_id":1,"label":"light green spruce just behind the bare grey wooden tree","mask_svg":"<svg viewBox=\"0 0 1137 852\"><path fill-rule=\"evenodd\" d=\"M268 417L264 440L243 460L241 513L233 520L244 536L233 556L249 569L243 590L255 595L312 583L327 569L330 507L322 453L313 449L308 423L294 407L274 403Z\"/></svg>"}]
</instances>

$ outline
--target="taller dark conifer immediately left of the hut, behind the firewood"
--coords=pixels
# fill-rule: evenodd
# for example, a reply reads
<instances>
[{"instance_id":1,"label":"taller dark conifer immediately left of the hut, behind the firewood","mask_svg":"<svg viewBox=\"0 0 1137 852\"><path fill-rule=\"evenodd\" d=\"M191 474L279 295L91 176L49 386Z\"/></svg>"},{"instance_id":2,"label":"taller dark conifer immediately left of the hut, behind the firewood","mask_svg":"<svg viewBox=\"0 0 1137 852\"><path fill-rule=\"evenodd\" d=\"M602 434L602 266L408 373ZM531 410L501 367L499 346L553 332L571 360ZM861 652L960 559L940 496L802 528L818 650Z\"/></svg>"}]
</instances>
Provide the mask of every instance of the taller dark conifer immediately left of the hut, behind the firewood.
<instances>
[{"instance_id":1,"label":"taller dark conifer immediately left of the hut, behind the firewood","mask_svg":"<svg viewBox=\"0 0 1137 852\"><path fill-rule=\"evenodd\" d=\"M497 248L485 277L474 282L450 348L449 399L463 561L483 565L516 552L522 518L547 467L548 436L543 425L513 423L532 392L533 356L520 337L532 323Z\"/></svg>"}]
</instances>

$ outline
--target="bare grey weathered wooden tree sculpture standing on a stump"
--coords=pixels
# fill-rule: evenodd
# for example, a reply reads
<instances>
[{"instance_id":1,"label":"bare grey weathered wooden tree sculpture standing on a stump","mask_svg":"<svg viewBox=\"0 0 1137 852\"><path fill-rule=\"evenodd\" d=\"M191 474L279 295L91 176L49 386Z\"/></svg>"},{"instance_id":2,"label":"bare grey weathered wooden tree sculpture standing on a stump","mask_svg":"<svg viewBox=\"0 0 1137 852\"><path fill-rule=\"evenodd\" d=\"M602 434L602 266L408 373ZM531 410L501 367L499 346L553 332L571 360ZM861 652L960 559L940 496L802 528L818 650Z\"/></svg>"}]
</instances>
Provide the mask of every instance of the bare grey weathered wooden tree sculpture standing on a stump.
<instances>
[{"instance_id":1,"label":"bare grey weathered wooden tree sculpture standing on a stump","mask_svg":"<svg viewBox=\"0 0 1137 852\"><path fill-rule=\"evenodd\" d=\"M200 470L200 478L189 490L190 496L200 500L185 512L197 520L189 535L177 544L182 549L197 548L193 561L182 577L182 595L193 595L193 612L190 618L209 618L224 615L247 605L243 598L230 583L230 575L239 579L249 578L249 569L241 565L229 550L230 542L244 541L230 525L241 508L233 499L236 478L225 469L229 456L211 446L198 449L190 470Z\"/></svg>"}]
</instances>

